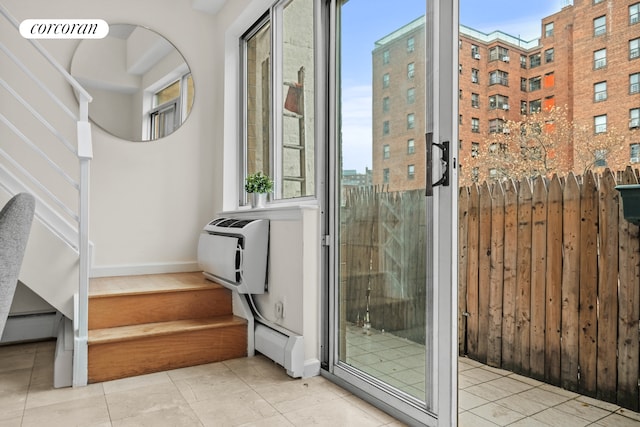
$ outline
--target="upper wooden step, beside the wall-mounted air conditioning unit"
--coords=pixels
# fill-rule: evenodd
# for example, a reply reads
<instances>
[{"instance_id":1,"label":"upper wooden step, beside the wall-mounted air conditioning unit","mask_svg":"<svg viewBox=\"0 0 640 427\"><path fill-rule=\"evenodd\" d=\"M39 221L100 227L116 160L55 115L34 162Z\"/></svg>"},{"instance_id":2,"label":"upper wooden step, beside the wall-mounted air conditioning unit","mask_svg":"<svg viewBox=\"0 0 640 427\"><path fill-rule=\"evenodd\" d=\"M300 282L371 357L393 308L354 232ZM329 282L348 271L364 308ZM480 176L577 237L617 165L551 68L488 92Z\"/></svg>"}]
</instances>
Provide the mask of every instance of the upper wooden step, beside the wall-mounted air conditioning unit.
<instances>
[{"instance_id":1,"label":"upper wooden step, beside the wall-mounted air conditioning unit","mask_svg":"<svg viewBox=\"0 0 640 427\"><path fill-rule=\"evenodd\" d=\"M231 292L202 273L91 280L89 329L232 313Z\"/></svg>"}]
</instances>

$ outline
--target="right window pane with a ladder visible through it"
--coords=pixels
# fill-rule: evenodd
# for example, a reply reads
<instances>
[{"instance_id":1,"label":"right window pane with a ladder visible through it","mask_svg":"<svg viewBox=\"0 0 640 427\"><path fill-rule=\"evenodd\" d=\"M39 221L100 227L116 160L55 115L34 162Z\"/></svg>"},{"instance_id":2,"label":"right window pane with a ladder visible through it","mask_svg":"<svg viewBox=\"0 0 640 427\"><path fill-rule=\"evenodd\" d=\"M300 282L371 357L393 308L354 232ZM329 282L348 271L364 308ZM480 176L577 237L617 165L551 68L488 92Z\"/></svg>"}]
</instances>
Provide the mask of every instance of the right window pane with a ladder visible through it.
<instances>
[{"instance_id":1,"label":"right window pane with a ladder visible through it","mask_svg":"<svg viewBox=\"0 0 640 427\"><path fill-rule=\"evenodd\" d=\"M282 194L312 196L315 188L313 3L283 10Z\"/></svg>"}]
</instances>

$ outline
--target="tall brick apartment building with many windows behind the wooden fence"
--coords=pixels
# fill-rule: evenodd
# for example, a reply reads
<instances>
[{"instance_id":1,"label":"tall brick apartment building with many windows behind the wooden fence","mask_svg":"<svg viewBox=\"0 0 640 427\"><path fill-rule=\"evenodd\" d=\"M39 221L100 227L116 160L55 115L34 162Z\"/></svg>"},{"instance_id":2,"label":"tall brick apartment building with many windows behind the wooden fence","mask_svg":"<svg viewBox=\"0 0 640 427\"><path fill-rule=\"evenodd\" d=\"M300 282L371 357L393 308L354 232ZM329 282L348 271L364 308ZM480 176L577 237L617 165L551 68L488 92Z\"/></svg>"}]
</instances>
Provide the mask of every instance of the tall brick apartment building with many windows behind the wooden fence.
<instances>
[{"instance_id":1,"label":"tall brick apartment building with many windows behind the wooden fence","mask_svg":"<svg viewBox=\"0 0 640 427\"><path fill-rule=\"evenodd\" d=\"M459 163L461 183L484 180L477 159L506 120L566 106L568 119L596 135L625 137L612 168L640 162L640 2L574 0L541 21L525 41L460 26ZM424 187L424 18L376 42L373 50L373 183ZM580 141L558 155L573 164Z\"/></svg>"}]
</instances>

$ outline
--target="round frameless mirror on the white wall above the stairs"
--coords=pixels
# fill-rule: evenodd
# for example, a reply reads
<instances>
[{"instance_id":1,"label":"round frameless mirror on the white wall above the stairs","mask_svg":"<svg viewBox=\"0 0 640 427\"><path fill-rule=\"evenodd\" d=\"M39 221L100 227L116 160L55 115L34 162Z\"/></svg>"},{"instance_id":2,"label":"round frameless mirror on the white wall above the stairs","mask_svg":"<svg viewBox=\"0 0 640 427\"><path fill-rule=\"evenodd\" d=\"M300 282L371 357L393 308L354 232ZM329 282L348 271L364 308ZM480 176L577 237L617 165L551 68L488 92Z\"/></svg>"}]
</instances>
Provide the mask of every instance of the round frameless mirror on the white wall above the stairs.
<instances>
[{"instance_id":1,"label":"round frameless mirror on the white wall above the stairs","mask_svg":"<svg viewBox=\"0 0 640 427\"><path fill-rule=\"evenodd\" d=\"M103 39L82 40L71 75L91 94L89 118L129 141L153 141L184 123L195 94L191 70L169 41L148 28L109 25Z\"/></svg>"}]
</instances>

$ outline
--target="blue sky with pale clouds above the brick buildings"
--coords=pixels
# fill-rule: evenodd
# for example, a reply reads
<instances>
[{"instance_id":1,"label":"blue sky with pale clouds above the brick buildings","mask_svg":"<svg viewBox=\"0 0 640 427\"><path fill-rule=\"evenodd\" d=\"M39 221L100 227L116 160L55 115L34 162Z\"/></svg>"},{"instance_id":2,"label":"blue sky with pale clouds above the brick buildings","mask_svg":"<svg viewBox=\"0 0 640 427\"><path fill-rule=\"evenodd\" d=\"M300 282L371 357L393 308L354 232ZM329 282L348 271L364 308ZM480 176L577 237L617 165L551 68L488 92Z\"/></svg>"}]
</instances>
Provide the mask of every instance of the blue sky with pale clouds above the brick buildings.
<instances>
[{"instance_id":1,"label":"blue sky with pale clouds above the brick buildings","mask_svg":"<svg viewBox=\"0 0 640 427\"><path fill-rule=\"evenodd\" d=\"M431 1L431 0L428 0ZM460 0L460 23L523 40L569 0ZM371 52L377 40L425 14L425 0L349 0L342 8L343 169L371 168Z\"/></svg>"}]
</instances>

